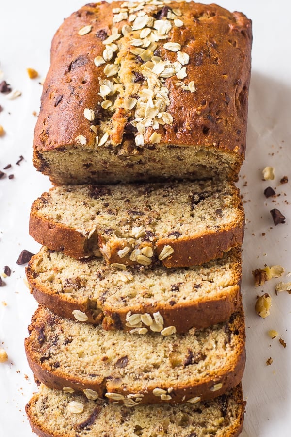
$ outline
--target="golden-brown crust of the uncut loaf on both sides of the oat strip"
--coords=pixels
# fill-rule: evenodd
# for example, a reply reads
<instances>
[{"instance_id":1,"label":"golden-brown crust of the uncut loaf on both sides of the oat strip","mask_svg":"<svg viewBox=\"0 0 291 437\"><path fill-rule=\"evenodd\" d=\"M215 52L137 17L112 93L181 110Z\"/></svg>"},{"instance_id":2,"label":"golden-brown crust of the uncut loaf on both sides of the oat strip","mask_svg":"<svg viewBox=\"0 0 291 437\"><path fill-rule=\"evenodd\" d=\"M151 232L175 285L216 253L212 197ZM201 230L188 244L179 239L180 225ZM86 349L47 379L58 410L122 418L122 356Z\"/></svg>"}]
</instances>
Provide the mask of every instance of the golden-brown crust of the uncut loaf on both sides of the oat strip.
<instances>
[{"instance_id":1,"label":"golden-brown crust of the uncut loaf on both sides of the oat strip","mask_svg":"<svg viewBox=\"0 0 291 437\"><path fill-rule=\"evenodd\" d=\"M78 148L94 148L96 134L90 130L91 122L84 118L83 110L98 108L98 103L102 101L97 93L100 86L98 77L106 78L104 65L96 67L94 64L94 58L102 55L104 50L102 37L98 35L100 32L111 34L112 9L121 3L90 3L67 18L54 36L51 67L44 84L41 111L35 127L34 164L58 184L62 178L53 174L46 162L46 153L43 152L73 150L78 135L87 139L87 145L79 145ZM169 3L167 6L175 8L177 4ZM161 142L155 144L153 149L163 145L198 145L205 146L211 153L225 151L235 156L235 165L228 170L230 177L235 179L245 153L251 21L241 13L231 14L213 4L182 2L178 7L184 25L173 26L167 41L179 43L181 50L190 55L187 83L194 81L196 92L190 93L176 86L176 76L166 79L165 86L169 89L171 101L167 112L173 116L174 122L172 126L166 124L155 131L151 127L147 128L145 147L150 144L150 135L157 132L162 135ZM78 31L88 24L92 25L92 31L80 36ZM127 20L115 23L114 26L121 30L124 24L127 24ZM123 38L118 44L127 50L126 42L122 41ZM174 62L176 53L165 50L163 43L164 40L158 42L159 54L162 59ZM139 69L137 63L136 70ZM103 148L114 150L122 143L122 154L127 154L123 138L126 121L130 116L130 111L120 108L113 114L112 122L116 128L110 134L111 145ZM152 154L154 157L155 150ZM120 167L127 172L125 162L120 160ZM100 171L106 172L106 168ZM142 169L130 171L134 179ZM102 179L101 173L96 176L97 179ZM65 176L68 175L64 174L64 181ZM90 177L94 180L94 175ZM116 178L118 180L118 176ZM71 182L81 183L78 174L72 177Z\"/></svg>"}]
</instances>

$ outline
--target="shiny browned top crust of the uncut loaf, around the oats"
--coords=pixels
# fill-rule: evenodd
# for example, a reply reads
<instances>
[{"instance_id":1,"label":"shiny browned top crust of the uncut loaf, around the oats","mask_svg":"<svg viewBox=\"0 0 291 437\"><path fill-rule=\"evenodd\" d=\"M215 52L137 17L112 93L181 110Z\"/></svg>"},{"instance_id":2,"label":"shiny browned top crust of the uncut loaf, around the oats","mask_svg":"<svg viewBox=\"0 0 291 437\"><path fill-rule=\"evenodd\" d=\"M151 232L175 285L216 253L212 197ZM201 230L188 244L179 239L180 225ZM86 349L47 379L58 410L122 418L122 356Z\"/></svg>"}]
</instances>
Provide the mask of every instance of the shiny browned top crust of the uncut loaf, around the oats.
<instances>
[{"instance_id":1,"label":"shiny browned top crust of the uncut loaf, around the oats","mask_svg":"<svg viewBox=\"0 0 291 437\"><path fill-rule=\"evenodd\" d=\"M127 106L125 98L138 99L138 93L132 94L133 84L140 84L140 89L147 85L144 62L139 55L130 52L141 49L138 43L136 46L130 44L133 39L140 39L141 30L124 36L121 31L123 26L134 26L134 22L121 19L113 23L113 16L114 21L118 21L120 14L113 11L118 11L116 8L121 5L124 8L125 4L119 1L89 3L68 17L55 34L51 67L35 127L35 160L37 151L62 150L64 146L73 147L76 144L81 148L93 148L97 144L96 137L100 143L106 133L109 138L101 147L114 149L126 141L127 123L134 120L136 114L135 109L124 108ZM185 65L185 78L178 79L173 75L165 78L164 84L163 78L160 82L168 89L170 101L163 111L172 116L173 123L155 122L156 126L146 127L146 132L142 134L144 144L154 141L150 140L150 136L155 132L161 134L161 145L211 146L235 152L241 162L245 151L251 21L239 12L230 13L214 4L170 2L165 6L159 1L145 6L140 4L148 16L153 17L149 20L153 32L154 20L165 20L171 24L171 30L163 35L165 38L156 42L157 47L150 46L155 48L154 56L159 56L162 61L176 62L177 52L163 47L169 42L178 43L179 51L190 56L189 63ZM125 10L128 10L127 6ZM176 11L176 16L173 11ZM140 12L135 12L135 15ZM182 25L179 22L176 25L174 18ZM89 27L83 30L85 26ZM97 67L94 59L102 55L104 39L112 34L113 27L121 35L113 41L118 49L109 62ZM108 80L114 83L116 79L121 83L121 91L103 98L99 95L99 79L107 79L104 67L114 65L114 62L118 73L108 77ZM189 88L187 90L190 82L194 82L194 92ZM185 85L186 89L183 89ZM112 109L101 108L100 103L104 99L112 101ZM94 111L91 121L84 117L86 108ZM96 126L93 128L96 132L90 129L92 125ZM134 136L137 134L134 132ZM82 138L76 140L79 135L85 138L85 144L80 144L84 141Z\"/></svg>"}]
</instances>

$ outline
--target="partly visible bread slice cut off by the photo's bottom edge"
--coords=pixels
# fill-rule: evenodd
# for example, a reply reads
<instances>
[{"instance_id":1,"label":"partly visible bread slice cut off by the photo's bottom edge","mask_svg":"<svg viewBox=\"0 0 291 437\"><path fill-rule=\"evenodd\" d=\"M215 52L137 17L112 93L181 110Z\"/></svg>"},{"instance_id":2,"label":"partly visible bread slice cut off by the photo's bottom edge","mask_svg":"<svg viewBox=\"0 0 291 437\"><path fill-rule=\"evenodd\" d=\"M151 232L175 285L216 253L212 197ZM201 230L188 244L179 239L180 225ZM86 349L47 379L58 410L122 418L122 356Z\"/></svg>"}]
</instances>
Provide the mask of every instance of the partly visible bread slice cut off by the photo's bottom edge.
<instances>
[{"instance_id":1,"label":"partly visible bread slice cut off by the photo's bottom edge","mask_svg":"<svg viewBox=\"0 0 291 437\"><path fill-rule=\"evenodd\" d=\"M207 402L138 406L128 400L129 406L113 405L41 385L26 413L42 437L235 437L242 431L241 385Z\"/></svg>"}]
</instances>

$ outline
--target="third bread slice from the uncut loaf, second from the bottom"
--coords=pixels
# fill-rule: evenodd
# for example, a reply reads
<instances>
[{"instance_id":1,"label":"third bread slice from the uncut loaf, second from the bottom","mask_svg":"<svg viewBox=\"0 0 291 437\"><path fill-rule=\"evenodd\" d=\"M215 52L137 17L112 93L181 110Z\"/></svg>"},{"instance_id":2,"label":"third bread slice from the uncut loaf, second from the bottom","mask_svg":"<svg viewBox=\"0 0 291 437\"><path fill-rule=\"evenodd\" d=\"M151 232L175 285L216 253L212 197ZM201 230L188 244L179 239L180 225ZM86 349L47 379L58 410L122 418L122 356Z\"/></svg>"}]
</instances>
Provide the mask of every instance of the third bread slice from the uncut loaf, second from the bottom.
<instances>
[{"instance_id":1,"label":"third bread slice from the uncut loaf, second from the bottom","mask_svg":"<svg viewBox=\"0 0 291 437\"><path fill-rule=\"evenodd\" d=\"M228 322L163 336L105 331L40 307L25 340L29 365L48 387L90 389L122 403L212 399L235 387L245 363L242 309Z\"/></svg>"}]
</instances>

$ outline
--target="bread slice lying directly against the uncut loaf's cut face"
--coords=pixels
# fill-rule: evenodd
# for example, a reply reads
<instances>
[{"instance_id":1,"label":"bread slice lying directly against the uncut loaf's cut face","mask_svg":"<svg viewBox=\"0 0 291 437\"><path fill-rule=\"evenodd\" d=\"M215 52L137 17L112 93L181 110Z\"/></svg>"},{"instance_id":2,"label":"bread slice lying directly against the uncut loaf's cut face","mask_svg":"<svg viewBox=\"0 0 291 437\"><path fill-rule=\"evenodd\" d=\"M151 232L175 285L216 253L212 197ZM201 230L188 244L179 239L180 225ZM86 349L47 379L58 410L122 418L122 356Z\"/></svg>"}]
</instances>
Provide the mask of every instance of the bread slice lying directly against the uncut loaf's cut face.
<instances>
[{"instance_id":1,"label":"bread slice lying directly against the uncut loaf's cut face","mask_svg":"<svg viewBox=\"0 0 291 437\"><path fill-rule=\"evenodd\" d=\"M30 234L74 258L199 265L242 244L244 212L232 183L63 186L32 204Z\"/></svg>"}]
</instances>

